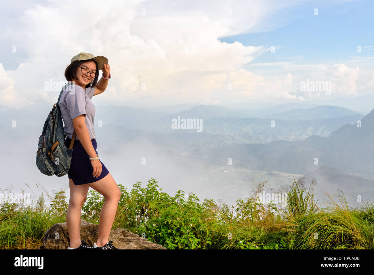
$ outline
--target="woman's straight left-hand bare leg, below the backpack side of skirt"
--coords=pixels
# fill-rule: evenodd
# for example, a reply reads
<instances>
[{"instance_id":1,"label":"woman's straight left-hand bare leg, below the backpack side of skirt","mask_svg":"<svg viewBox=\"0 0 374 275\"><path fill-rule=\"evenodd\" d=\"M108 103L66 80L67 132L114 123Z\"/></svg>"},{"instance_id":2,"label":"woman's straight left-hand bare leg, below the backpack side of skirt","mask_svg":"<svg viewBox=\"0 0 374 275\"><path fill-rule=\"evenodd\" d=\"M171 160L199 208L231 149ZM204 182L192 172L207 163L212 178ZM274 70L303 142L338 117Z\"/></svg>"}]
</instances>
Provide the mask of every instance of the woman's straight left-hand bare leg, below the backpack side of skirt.
<instances>
[{"instance_id":1,"label":"woman's straight left-hand bare leg, below the backpack side of skirt","mask_svg":"<svg viewBox=\"0 0 374 275\"><path fill-rule=\"evenodd\" d=\"M66 224L69 232L69 241L71 248L78 248L82 243L80 241L80 219L82 206L86 201L87 192L90 188L87 184L74 185L72 179L69 179L70 199L66 211Z\"/></svg>"}]
</instances>

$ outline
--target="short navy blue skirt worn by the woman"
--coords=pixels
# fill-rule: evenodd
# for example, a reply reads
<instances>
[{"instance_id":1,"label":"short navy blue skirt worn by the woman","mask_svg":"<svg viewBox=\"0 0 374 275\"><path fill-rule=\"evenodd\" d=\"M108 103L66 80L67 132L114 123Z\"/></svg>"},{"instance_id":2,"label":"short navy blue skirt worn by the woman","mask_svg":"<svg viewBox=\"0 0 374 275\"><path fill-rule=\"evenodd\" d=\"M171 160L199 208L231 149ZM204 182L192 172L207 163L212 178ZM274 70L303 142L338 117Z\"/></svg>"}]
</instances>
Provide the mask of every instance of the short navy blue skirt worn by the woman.
<instances>
[{"instance_id":1,"label":"short navy blue skirt worn by the woman","mask_svg":"<svg viewBox=\"0 0 374 275\"><path fill-rule=\"evenodd\" d=\"M65 145L67 148L70 146L71 139L66 137ZM92 146L95 149L96 154L98 155L96 148L96 139L91 139ZM85 148L83 147L82 143L80 143L79 139L74 141L73 145L73 154L71 155L71 164L70 169L68 172L68 178L73 179L74 185L82 185L87 183L96 182L103 177L109 174L107 167L105 167L104 163L101 162L102 171L100 176L94 177L92 175L93 168L91 165L91 160L89 159L89 155L87 154ZM99 156L100 157L100 156Z\"/></svg>"}]
</instances>

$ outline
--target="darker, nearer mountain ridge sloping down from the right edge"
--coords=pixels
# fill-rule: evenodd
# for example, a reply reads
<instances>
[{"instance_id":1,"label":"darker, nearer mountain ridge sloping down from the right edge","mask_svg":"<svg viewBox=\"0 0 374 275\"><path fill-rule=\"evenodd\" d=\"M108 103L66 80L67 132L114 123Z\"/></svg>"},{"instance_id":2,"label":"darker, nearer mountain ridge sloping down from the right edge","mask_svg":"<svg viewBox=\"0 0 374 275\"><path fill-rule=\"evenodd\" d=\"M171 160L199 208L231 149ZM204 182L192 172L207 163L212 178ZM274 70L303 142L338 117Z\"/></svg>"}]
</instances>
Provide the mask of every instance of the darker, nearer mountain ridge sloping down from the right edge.
<instances>
[{"instance_id":1,"label":"darker, nearer mountain ridge sloping down from the right edge","mask_svg":"<svg viewBox=\"0 0 374 275\"><path fill-rule=\"evenodd\" d=\"M336 167L346 173L374 174L374 110L358 124L345 124L329 137L312 135L301 141L276 140L266 144L206 148L212 164L222 165L228 157L239 166L261 171L302 173L318 164Z\"/></svg>"}]
</instances>

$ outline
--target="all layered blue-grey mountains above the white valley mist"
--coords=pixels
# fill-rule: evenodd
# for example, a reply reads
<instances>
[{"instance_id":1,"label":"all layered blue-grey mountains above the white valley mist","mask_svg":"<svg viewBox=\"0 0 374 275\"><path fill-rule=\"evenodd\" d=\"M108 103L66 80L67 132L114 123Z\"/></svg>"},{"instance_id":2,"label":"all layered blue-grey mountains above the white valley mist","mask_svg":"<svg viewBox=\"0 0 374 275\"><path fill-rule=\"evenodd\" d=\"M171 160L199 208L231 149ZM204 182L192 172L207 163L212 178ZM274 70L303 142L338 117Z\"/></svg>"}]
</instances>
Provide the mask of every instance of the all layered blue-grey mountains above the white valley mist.
<instances>
[{"instance_id":1,"label":"all layered blue-grey mountains above the white valley mist","mask_svg":"<svg viewBox=\"0 0 374 275\"><path fill-rule=\"evenodd\" d=\"M35 131L33 135L39 137L50 108L35 109L34 113L30 108L1 112L4 142L7 137L17 139L17 133L25 129L28 135ZM95 130L100 135L108 133L110 139L118 143L143 139L168 148L181 148L188 153L198 151L198 155L205 156L212 165L225 164L227 158L232 157L238 166L302 173L316 169L314 162L318 158L319 164L347 173L374 173L373 111L363 118L337 106L278 113L280 117L288 118L295 114L301 119L276 118L275 127L270 127L270 118L249 118L222 106L197 105L174 114L128 106L96 106L95 124L101 121L103 127L95 127ZM171 129L172 118L178 116L203 118L203 132ZM332 118L325 118L329 116ZM309 117L312 119L306 120ZM360 119L362 125L357 127ZM17 121L16 130L10 127L13 120Z\"/></svg>"}]
</instances>

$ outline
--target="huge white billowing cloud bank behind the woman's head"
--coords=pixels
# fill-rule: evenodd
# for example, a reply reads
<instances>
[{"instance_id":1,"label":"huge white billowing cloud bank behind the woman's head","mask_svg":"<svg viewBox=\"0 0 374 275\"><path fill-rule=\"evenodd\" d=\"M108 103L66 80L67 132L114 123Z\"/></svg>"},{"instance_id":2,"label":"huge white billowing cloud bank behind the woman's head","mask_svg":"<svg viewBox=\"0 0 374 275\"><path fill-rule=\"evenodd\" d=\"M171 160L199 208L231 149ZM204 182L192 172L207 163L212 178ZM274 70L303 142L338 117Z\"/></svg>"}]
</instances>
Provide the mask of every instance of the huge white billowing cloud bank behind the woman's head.
<instances>
[{"instance_id":1,"label":"huge white billowing cloud bank behind the woman's head","mask_svg":"<svg viewBox=\"0 0 374 275\"><path fill-rule=\"evenodd\" d=\"M59 91L44 89L45 82L63 83L66 66L79 52L109 60L113 77L105 93L95 97L96 103L149 106L264 98L303 101L319 96L300 92L299 83L305 78L297 73L300 68L312 70L310 77L330 79L340 94L355 94L358 68L281 62L281 74L258 75L242 66L269 49L219 40L223 35L279 28L286 21L271 25L267 19L296 4L300 1L108 1L103 5L92 0L18 5L16 24L7 25L5 39L27 58L14 71L0 70L2 104L15 108L56 102Z\"/></svg>"}]
</instances>

